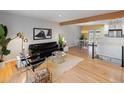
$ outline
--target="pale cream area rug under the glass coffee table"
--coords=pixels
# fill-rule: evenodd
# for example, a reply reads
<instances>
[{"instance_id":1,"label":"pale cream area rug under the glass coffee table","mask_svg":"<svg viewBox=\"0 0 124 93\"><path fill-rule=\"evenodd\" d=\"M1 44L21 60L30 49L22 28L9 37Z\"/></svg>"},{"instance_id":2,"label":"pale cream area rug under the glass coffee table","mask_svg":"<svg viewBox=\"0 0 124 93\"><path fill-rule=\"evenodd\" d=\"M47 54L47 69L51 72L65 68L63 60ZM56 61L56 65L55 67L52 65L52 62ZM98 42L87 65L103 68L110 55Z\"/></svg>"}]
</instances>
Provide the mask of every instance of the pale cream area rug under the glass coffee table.
<instances>
[{"instance_id":1,"label":"pale cream area rug under the glass coffee table","mask_svg":"<svg viewBox=\"0 0 124 93\"><path fill-rule=\"evenodd\" d=\"M78 65L80 62L83 61L83 58L77 57L71 54L67 54L65 58L65 62L60 64L55 64L54 69L52 70L53 74L53 81L57 80L61 75L65 72L71 70L73 67Z\"/></svg>"}]
</instances>

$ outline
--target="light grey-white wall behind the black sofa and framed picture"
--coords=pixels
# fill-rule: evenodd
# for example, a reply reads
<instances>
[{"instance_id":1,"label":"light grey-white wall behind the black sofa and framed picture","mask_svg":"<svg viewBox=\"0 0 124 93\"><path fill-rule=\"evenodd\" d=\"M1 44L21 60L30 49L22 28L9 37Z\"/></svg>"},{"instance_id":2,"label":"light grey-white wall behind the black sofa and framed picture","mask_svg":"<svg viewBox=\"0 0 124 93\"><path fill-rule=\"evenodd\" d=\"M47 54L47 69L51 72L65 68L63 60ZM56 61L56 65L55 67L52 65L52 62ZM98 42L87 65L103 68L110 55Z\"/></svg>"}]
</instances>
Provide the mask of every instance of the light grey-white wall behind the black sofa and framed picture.
<instances>
[{"instance_id":1,"label":"light grey-white wall behind the black sofa and framed picture","mask_svg":"<svg viewBox=\"0 0 124 93\"><path fill-rule=\"evenodd\" d=\"M55 41L59 33L63 34L69 46L74 46L77 45L80 35L80 28L77 26L59 26L55 22L3 12L0 12L0 24L4 24L8 27L8 37L13 38L18 32L23 32L25 34L29 40L28 43L25 43L26 51L28 50L29 44ZM33 40L34 27L51 28L53 31L52 39ZM11 54L8 58L15 58L21 51L20 39L11 41L8 48L11 49Z\"/></svg>"}]
</instances>

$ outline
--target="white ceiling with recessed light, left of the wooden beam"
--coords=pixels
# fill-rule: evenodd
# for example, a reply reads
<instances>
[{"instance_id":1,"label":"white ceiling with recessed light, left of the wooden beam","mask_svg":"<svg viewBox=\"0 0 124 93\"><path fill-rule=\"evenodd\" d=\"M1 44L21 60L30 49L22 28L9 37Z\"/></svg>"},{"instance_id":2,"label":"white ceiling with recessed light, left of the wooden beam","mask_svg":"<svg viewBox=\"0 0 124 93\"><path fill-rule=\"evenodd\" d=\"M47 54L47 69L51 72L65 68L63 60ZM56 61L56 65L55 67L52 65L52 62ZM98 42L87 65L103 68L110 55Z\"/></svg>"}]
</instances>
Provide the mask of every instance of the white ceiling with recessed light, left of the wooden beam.
<instances>
[{"instance_id":1,"label":"white ceiling with recessed light, left of the wooden beam","mask_svg":"<svg viewBox=\"0 0 124 93\"><path fill-rule=\"evenodd\" d=\"M62 22L114 11L115 10L4 10L2 12Z\"/></svg>"}]
</instances>

